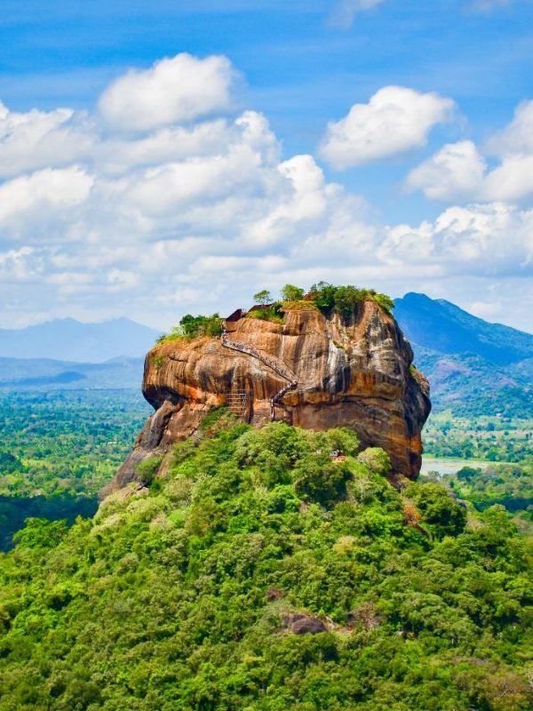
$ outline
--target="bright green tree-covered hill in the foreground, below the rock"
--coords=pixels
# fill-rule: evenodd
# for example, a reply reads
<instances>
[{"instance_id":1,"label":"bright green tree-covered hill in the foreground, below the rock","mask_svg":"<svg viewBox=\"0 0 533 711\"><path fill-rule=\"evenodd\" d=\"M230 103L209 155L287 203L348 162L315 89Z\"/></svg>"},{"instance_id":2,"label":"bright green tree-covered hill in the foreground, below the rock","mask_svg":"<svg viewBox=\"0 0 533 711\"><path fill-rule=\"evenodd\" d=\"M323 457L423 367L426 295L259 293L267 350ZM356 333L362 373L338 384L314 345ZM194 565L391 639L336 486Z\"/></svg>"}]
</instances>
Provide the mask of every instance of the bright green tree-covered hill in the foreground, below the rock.
<instances>
[{"instance_id":1,"label":"bright green tree-covered hill in the foreground, below the rock","mask_svg":"<svg viewBox=\"0 0 533 711\"><path fill-rule=\"evenodd\" d=\"M397 491L349 430L202 431L0 555L0 711L530 711L505 510Z\"/></svg>"}]
</instances>

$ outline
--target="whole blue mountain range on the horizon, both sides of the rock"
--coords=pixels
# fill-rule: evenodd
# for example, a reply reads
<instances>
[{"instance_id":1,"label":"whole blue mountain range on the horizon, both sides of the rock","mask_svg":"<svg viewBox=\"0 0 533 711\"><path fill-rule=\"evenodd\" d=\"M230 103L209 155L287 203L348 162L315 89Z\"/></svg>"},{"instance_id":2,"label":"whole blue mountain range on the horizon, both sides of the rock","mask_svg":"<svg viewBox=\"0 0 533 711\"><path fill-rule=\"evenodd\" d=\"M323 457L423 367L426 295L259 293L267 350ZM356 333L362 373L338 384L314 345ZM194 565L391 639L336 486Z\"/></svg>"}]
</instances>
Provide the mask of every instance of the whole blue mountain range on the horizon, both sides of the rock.
<instances>
[{"instance_id":1,"label":"whole blue mountain range on the horizon, both sides of the rock","mask_svg":"<svg viewBox=\"0 0 533 711\"><path fill-rule=\"evenodd\" d=\"M435 411L533 417L533 335L425 294L394 303L415 363L430 381ZM0 388L140 391L143 357L158 335L127 318L0 330Z\"/></svg>"}]
</instances>

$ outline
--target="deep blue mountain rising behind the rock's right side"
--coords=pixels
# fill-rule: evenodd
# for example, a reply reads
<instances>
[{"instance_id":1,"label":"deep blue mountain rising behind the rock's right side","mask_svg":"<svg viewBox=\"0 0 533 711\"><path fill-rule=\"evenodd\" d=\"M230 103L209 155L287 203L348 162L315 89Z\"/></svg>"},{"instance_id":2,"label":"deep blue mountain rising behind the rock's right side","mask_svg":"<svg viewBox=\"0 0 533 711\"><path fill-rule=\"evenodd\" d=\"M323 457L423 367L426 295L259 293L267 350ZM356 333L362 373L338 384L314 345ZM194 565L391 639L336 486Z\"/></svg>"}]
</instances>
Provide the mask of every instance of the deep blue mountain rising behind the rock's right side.
<instances>
[{"instance_id":1,"label":"deep blue mountain rising behind the rock's right side","mask_svg":"<svg viewBox=\"0 0 533 711\"><path fill-rule=\"evenodd\" d=\"M408 293L394 316L431 385L434 410L533 417L533 335Z\"/></svg>"}]
</instances>

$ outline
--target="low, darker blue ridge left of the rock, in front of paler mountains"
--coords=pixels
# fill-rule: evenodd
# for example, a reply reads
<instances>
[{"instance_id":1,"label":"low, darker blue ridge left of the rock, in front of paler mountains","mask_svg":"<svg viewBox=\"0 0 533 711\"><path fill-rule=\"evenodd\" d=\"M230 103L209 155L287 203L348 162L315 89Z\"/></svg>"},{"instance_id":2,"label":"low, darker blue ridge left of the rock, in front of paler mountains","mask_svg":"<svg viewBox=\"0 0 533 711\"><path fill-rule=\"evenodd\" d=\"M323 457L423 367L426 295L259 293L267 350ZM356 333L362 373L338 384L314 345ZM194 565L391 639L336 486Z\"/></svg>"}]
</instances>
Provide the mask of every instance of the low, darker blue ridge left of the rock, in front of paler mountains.
<instances>
[{"instance_id":1,"label":"low, darker blue ridge left of the rock, in front of paler mountains","mask_svg":"<svg viewBox=\"0 0 533 711\"><path fill-rule=\"evenodd\" d=\"M114 358L107 363L74 363L46 358L0 357L0 389L138 390L143 363L143 358Z\"/></svg>"}]
</instances>

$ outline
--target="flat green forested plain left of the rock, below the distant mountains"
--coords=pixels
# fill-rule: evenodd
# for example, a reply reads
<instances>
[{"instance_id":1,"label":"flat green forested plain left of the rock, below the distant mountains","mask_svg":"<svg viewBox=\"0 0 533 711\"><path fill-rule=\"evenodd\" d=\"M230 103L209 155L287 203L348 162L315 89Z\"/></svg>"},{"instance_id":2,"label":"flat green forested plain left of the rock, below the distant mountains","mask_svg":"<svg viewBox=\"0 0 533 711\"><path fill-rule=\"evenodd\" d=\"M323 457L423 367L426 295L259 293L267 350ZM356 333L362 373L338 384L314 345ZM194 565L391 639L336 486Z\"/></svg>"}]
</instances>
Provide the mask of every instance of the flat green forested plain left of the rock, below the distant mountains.
<instances>
[{"instance_id":1,"label":"flat green forested plain left of the rock, below the distant mountains","mask_svg":"<svg viewBox=\"0 0 533 711\"><path fill-rule=\"evenodd\" d=\"M150 410L138 390L0 391L0 550L30 516L92 515Z\"/></svg>"}]
</instances>

